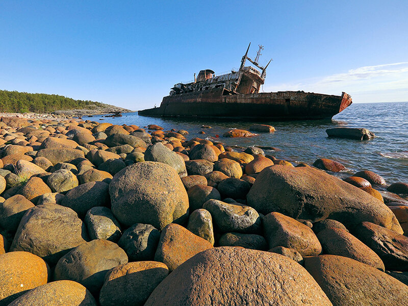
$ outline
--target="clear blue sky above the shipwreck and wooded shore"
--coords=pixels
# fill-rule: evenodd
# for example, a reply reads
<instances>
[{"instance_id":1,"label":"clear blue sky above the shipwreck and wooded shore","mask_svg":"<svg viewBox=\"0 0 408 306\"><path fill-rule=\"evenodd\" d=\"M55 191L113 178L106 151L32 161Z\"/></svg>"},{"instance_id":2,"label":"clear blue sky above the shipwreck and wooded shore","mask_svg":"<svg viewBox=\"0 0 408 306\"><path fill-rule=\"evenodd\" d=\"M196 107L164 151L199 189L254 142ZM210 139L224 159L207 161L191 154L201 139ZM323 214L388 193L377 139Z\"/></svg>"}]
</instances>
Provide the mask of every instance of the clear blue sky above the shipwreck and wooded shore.
<instances>
[{"instance_id":1,"label":"clear blue sky above the shipwreck and wooded shore","mask_svg":"<svg viewBox=\"0 0 408 306\"><path fill-rule=\"evenodd\" d=\"M200 69L273 58L263 90L408 100L408 1L0 1L0 89L139 110Z\"/></svg>"}]
</instances>

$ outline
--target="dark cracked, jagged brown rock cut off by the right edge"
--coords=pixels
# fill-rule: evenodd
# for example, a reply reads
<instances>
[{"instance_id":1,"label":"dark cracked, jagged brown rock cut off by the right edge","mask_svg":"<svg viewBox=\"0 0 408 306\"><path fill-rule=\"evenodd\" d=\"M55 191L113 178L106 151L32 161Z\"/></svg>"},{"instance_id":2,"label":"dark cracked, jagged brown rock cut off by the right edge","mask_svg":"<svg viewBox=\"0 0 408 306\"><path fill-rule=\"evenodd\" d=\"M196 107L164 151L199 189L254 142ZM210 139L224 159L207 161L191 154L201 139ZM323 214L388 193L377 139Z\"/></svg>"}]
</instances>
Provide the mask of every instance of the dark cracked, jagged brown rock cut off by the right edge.
<instances>
[{"instance_id":1,"label":"dark cracked, jagged brown rock cut off by the right edge","mask_svg":"<svg viewBox=\"0 0 408 306\"><path fill-rule=\"evenodd\" d=\"M408 270L408 237L370 222L361 223L355 235L377 253L387 270Z\"/></svg>"}]
</instances>

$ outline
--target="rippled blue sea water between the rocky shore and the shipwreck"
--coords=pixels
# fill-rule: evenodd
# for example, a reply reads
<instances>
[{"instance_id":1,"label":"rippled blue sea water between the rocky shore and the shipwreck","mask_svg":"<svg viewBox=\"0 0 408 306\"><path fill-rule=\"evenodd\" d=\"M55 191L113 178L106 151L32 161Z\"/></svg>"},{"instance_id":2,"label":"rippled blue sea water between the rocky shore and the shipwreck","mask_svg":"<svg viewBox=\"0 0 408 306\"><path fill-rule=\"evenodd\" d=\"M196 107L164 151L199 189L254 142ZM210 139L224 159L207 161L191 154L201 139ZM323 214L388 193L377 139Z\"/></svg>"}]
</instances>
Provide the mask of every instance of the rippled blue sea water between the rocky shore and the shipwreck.
<instances>
[{"instance_id":1,"label":"rippled blue sea water between the rocky shore and the shipwreck","mask_svg":"<svg viewBox=\"0 0 408 306\"><path fill-rule=\"evenodd\" d=\"M165 130L188 131L190 134L187 139L213 138L226 145L273 146L281 151L266 151L267 154L293 163L312 164L318 158L339 161L348 168L339 176L366 169L382 175L389 184L408 182L408 102L352 104L331 120L259 122L274 126L276 131L249 138L222 137L228 129L249 129L252 122L247 121L154 118L139 116L137 112L123 114L119 118L98 115L83 119L136 124L140 127L158 124ZM200 129L202 124L209 124L212 129ZM369 141L329 139L325 131L330 127L365 127L374 132L376 137ZM206 134L198 134L200 131ZM220 137L216 138L216 135Z\"/></svg>"}]
</instances>

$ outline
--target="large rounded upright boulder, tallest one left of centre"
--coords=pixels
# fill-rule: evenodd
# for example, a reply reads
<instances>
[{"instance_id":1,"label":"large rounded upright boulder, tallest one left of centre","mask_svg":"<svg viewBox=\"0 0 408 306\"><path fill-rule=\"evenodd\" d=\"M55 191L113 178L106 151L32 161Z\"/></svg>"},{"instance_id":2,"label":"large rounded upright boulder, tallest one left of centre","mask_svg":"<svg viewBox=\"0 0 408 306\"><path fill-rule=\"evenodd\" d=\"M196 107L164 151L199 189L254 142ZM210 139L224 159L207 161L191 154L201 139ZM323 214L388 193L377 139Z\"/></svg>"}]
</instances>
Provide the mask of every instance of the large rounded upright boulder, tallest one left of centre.
<instances>
[{"instance_id":1,"label":"large rounded upright boulder, tallest one left of centre","mask_svg":"<svg viewBox=\"0 0 408 306\"><path fill-rule=\"evenodd\" d=\"M109 185L112 212L124 225L151 224L163 230L188 217L188 195L169 165L141 162L118 172Z\"/></svg>"}]
</instances>

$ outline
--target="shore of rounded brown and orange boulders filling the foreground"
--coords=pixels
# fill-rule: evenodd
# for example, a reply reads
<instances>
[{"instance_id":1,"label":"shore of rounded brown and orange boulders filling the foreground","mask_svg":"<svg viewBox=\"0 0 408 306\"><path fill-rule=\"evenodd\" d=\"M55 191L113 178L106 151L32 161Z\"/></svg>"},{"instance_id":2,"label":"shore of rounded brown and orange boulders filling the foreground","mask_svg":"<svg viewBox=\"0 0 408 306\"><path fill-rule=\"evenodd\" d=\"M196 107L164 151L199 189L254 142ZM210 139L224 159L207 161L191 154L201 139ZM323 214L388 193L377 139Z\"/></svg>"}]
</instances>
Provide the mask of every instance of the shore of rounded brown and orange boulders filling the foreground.
<instances>
[{"instance_id":1,"label":"shore of rounded brown and orange boulders filling the foreground","mask_svg":"<svg viewBox=\"0 0 408 306\"><path fill-rule=\"evenodd\" d=\"M406 178L35 115L0 117L0 157L0 306L408 300Z\"/></svg>"}]
</instances>

